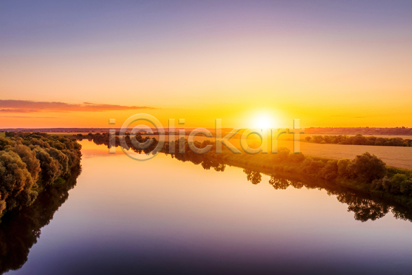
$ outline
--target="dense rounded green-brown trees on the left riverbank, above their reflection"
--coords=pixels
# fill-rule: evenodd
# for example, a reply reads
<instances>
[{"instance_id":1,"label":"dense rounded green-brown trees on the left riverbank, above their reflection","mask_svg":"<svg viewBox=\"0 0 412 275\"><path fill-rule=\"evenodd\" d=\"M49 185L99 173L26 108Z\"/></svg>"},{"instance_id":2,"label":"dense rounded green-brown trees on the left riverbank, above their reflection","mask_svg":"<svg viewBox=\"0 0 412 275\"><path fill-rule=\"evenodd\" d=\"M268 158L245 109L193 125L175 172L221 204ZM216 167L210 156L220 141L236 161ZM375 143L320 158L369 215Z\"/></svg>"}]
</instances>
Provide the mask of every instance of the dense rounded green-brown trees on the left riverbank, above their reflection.
<instances>
[{"instance_id":1,"label":"dense rounded green-brown trees on the left riverbank, above their reflection","mask_svg":"<svg viewBox=\"0 0 412 275\"><path fill-rule=\"evenodd\" d=\"M65 184L80 167L80 149L76 140L47 133L0 137L0 217L30 206L45 188Z\"/></svg>"}]
</instances>

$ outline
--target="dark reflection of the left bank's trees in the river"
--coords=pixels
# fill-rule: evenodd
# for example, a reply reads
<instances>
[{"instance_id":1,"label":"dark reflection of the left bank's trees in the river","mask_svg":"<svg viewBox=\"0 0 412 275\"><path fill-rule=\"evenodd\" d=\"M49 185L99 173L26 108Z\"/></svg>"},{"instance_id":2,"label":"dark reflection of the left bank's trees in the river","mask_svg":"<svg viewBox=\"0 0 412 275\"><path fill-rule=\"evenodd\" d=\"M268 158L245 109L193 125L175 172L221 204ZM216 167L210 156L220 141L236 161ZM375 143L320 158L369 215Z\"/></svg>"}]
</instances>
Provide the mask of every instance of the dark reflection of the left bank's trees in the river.
<instances>
[{"instance_id":1,"label":"dark reflection of the left bank's trees in the river","mask_svg":"<svg viewBox=\"0 0 412 275\"><path fill-rule=\"evenodd\" d=\"M0 223L0 274L18 270L27 261L30 248L37 242L41 228L52 221L54 213L69 197L76 186L80 167L72 170L65 184L41 192L32 206L19 212L10 211Z\"/></svg>"}]
</instances>

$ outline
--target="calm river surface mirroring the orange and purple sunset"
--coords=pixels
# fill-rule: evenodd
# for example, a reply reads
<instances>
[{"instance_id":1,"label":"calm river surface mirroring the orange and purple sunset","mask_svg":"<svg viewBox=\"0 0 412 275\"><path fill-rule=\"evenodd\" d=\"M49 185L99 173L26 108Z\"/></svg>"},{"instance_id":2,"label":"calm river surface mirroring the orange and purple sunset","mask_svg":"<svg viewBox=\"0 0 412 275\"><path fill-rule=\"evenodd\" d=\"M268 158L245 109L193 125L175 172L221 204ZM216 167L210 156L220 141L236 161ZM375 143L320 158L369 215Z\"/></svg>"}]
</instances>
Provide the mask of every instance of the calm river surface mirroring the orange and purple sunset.
<instances>
[{"instance_id":1,"label":"calm river surface mirroring the orange and purple sunset","mask_svg":"<svg viewBox=\"0 0 412 275\"><path fill-rule=\"evenodd\" d=\"M163 154L137 162L81 143L76 186L1 225L1 270L411 274L412 223L385 203L323 188L275 190L270 176L252 184L242 168L205 170Z\"/></svg>"}]
</instances>

